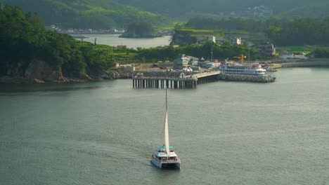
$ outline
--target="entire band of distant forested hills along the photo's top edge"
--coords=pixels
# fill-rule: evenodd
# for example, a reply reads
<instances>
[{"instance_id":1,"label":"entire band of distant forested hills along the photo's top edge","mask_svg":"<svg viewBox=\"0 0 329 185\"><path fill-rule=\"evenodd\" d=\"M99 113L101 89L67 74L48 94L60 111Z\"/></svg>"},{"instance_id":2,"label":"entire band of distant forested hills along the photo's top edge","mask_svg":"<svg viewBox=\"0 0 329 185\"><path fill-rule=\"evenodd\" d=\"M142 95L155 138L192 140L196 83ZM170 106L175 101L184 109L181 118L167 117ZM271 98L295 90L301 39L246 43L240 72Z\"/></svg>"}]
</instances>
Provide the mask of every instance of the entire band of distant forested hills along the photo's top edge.
<instances>
[{"instance_id":1,"label":"entire band of distant forested hills along the photo's top edge","mask_svg":"<svg viewBox=\"0 0 329 185\"><path fill-rule=\"evenodd\" d=\"M198 15L238 17L317 17L328 15L328 0L0 0L36 12L46 25L108 29L127 27L131 22L153 26L169 24L168 18Z\"/></svg>"}]
</instances>

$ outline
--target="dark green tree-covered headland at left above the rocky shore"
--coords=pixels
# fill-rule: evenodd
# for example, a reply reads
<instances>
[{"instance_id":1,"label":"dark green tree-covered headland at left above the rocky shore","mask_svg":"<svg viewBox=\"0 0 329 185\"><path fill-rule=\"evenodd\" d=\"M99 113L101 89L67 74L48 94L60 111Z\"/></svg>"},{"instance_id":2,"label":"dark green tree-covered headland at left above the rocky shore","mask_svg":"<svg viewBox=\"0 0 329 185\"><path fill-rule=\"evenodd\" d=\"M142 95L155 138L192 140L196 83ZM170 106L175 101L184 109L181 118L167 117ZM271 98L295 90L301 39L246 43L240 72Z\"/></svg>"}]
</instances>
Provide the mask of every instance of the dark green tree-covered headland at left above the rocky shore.
<instances>
[{"instance_id":1,"label":"dark green tree-covered headland at left above the rocky shore","mask_svg":"<svg viewBox=\"0 0 329 185\"><path fill-rule=\"evenodd\" d=\"M18 7L0 11L0 75L20 67L20 74L32 60L44 60L67 75L98 74L113 66L113 60L130 59L136 50L95 46L67 34L47 31L38 15L26 15Z\"/></svg>"}]
</instances>

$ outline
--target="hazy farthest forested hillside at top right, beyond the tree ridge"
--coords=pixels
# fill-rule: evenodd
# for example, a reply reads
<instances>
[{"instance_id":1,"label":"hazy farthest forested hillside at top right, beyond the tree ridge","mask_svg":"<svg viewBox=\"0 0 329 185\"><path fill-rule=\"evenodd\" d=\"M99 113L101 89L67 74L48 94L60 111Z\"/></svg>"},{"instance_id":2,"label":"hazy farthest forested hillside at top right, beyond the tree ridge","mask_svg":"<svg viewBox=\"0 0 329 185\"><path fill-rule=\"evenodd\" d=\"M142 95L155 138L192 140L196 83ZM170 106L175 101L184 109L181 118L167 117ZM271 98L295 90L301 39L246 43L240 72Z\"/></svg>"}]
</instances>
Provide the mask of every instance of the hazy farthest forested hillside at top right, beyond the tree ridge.
<instances>
[{"instance_id":1,"label":"hazy farthest forested hillside at top right, beyond the tree ridge","mask_svg":"<svg viewBox=\"0 0 329 185\"><path fill-rule=\"evenodd\" d=\"M191 18L195 15L322 16L328 14L328 0L115 0L163 15Z\"/></svg>"}]
</instances>

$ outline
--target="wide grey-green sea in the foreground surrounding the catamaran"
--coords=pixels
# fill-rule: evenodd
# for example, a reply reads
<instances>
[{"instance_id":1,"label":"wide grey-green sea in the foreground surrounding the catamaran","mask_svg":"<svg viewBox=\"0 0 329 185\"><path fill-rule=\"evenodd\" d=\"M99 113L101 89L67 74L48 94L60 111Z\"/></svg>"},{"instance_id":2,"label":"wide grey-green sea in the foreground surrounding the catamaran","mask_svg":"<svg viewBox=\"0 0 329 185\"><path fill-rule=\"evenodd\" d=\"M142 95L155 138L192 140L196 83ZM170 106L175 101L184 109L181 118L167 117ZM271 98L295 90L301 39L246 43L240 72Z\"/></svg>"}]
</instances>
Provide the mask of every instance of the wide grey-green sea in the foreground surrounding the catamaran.
<instances>
[{"instance_id":1,"label":"wide grey-green sea in the foreground surrounding the catamaran","mask_svg":"<svg viewBox=\"0 0 329 185\"><path fill-rule=\"evenodd\" d=\"M1 85L0 184L329 184L329 69L168 90L181 170L150 163L164 90Z\"/></svg>"}]
</instances>

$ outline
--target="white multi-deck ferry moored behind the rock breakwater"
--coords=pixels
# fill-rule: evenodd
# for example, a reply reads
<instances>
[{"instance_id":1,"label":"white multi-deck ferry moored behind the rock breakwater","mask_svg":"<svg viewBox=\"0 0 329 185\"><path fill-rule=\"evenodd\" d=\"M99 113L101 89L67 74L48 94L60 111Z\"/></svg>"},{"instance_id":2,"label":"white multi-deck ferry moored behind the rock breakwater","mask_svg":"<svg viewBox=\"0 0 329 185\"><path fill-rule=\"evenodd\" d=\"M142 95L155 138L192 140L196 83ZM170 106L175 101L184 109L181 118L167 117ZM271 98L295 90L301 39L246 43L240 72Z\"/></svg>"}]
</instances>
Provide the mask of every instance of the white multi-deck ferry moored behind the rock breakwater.
<instances>
[{"instance_id":1,"label":"white multi-deck ferry moored behind the rock breakwater","mask_svg":"<svg viewBox=\"0 0 329 185\"><path fill-rule=\"evenodd\" d=\"M266 69L263 69L258 62L250 65L228 64L228 62L225 62L225 64L218 67L217 70L224 72L224 74L244 74L257 76L264 76L266 72Z\"/></svg>"}]
</instances>

